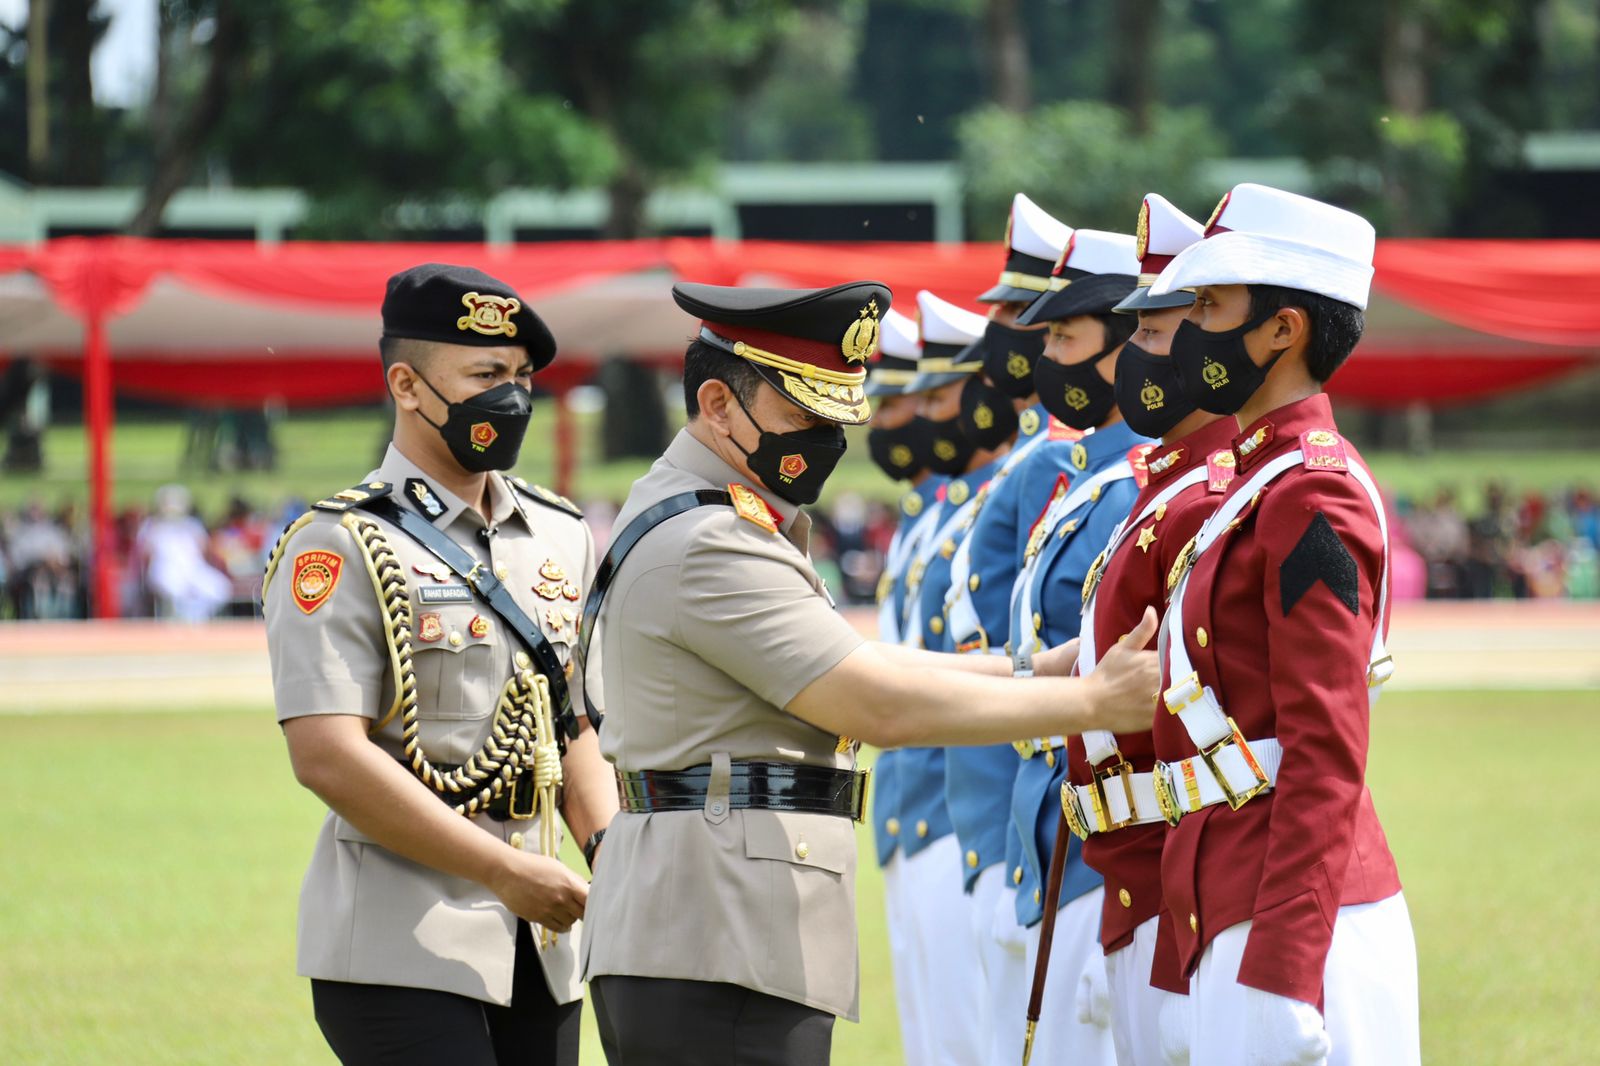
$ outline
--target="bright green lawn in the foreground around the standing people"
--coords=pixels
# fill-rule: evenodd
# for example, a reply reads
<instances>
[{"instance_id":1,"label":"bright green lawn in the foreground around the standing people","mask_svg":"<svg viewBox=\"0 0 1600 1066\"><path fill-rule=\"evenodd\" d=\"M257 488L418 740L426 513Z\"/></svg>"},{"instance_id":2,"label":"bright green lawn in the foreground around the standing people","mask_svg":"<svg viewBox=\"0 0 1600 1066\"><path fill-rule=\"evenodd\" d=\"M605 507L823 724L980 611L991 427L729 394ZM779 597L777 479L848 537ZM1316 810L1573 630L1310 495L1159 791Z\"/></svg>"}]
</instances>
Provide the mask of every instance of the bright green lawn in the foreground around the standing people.
<instances>
[{"instance_id":1,"label":"bright green lawn in the foreground around the standing people","mask_svg":"<svg viewBox=\"0 0 1600 1066\"><path fill-rule=\"evenodd\" d=\"M333 1061L293 960L320 805L269 711L11 717L0 735L0 1063ZM1416 922L1427 1061L1595 1061L1597 747L1595 691L1384 698L1371 786ZM864 1021L837 1028L834 1061L883 1066L899 1036L866 829L861 855Z\"/></svg>"}]
</instances>

